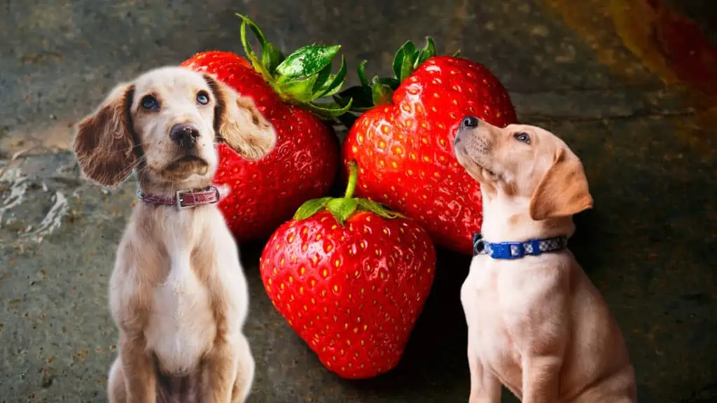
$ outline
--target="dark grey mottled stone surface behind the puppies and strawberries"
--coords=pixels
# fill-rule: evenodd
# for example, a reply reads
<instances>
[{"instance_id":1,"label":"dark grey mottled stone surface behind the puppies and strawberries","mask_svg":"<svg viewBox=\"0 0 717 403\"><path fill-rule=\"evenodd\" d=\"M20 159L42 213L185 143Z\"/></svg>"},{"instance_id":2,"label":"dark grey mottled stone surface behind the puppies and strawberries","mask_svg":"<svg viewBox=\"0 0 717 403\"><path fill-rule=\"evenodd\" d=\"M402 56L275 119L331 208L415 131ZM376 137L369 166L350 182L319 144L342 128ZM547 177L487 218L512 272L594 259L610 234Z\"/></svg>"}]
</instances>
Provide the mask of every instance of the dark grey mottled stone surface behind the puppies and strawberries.
<instances>
[{"instance_id":1,"label":"dark grey mottled stone surface behind the puppies and strawberries","mask_svg":"<svg viewBox=\"0 0 717 403\"><path fill-rule=\"evenodd\" d=\"M583 158L596 208L577 218L573 250L625 332L641 401L717 401L717 102L641 41L650 18L635 11L640 1L1 2L0 402L105 402L116 343L106 288L135 184L82 181L67 153L71 126L118 80L204 49L240 52L235 11L282 49L343 44L371 74L426 34L490 67L521 120ZM670 4L701 27L717 15L714 2ZM467 401L467 258L440 252L402 363L353 382L323 369L275 313L257 272L261 245L241 249L252 402Z\"/></svg>"}]
</instances>

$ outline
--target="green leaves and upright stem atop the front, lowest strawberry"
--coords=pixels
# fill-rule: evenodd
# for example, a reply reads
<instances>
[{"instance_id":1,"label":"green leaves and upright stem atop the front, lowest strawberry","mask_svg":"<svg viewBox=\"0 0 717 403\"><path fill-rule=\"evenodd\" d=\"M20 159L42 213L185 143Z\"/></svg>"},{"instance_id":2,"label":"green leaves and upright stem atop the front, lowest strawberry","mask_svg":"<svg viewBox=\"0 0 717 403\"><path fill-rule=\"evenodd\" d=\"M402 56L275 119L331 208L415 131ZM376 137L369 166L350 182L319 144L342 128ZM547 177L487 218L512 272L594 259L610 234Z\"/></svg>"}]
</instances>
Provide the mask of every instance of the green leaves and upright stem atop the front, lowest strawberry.
<instances>
[{"instance_id":1,"label":"green leaves and upright stem atop the front, lowest strawberry","mask_svg":"<svg viewBox=\"0 0 717 403\"><path fill-rule=\"evenodd\" d=\"M296 210L294 219L298 221L308 219L323 210L330 212L331 215L336 218L338 224L342 226L343 223L357 211L372 212L386 219L394 219L397 217L405 218L403 214L394 212L376 201L353 197L353 192L356 191L356 180L358 176L358 166L355 161L351 161L351 163L348 164L348 184L343 197L328 196L306 201Z\"/></svg>"}]
</instances>

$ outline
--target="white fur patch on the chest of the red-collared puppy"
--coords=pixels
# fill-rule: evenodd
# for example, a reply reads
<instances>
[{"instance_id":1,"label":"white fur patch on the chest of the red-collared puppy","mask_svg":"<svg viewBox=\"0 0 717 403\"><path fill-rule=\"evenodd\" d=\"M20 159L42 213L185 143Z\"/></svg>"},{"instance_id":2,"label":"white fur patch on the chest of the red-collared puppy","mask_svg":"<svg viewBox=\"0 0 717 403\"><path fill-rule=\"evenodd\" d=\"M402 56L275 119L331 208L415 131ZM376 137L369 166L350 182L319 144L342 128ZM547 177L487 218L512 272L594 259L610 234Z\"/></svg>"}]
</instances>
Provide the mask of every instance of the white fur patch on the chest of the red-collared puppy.
<instances>
[{"instance_id":1,"label":"white fur patch on the chest of the red-collared puppy","mask_svg":"<svg viewBox=\"0 0 717 403\"><path fill-rule=\"evenodd\" d=\"M148 348L170 374L194 369L216 334L209 289L189 264L189 256L172 262L166 280L154 288L145 331Z\"/></svg>"}]
</instances>

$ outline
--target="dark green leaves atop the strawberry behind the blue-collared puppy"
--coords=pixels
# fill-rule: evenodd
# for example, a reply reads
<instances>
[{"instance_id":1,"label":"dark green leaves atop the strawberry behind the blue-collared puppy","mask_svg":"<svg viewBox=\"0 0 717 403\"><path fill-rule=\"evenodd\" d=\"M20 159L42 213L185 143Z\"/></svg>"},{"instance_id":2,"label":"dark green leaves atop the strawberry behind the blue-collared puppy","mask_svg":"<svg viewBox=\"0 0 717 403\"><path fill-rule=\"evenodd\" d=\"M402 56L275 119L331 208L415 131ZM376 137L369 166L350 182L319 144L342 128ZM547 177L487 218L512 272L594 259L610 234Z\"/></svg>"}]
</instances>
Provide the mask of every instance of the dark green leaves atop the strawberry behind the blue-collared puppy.
<instances>
[{"instance_id":1,"label":"dark green leaves atop the strawberry behind the blue-collared puppy","mask_svg":"<svg viewBox=\"0 0 717 403\"><path fill-rule=\"evenodd\" d=\"M458 57L460 50L453 54ZM410 39L398 49L391 63L393 67L393 77L374 76L369 82L366 77L366 60L363 60L358 67L359 80L361 85L348 87L333 96L338 105L346 107L350 105L348 111L361 115L361 113L374 108L377 105L389 105L393 103L394 91L399 85L406 80L409 75L422 65L426 60L437 55L435 43L431 37L426 37L426 44L419 49ZM358 116L353 114L345 114L339 117L347 128L353 125Z\"/></svg>"}]
</instances>

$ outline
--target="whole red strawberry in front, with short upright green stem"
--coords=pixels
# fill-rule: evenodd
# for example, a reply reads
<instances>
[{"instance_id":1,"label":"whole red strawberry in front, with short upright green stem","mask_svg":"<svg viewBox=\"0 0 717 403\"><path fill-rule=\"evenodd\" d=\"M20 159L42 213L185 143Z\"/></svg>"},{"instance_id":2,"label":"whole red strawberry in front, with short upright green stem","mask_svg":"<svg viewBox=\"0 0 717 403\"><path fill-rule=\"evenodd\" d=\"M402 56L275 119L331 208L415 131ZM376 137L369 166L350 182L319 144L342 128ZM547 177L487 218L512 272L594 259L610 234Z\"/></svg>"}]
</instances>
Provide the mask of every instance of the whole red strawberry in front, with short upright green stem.
<instances>
[{"instance_id":1,"label":"whole red strawberry in front, with short upright green stem","mask_svg":"<svg viewBox=\"0 0 717 403\"><path fill-rule=\"evenodd\" d=\"M307 201L272 235L260 270L269 298L326 368L364 379L394 368L435 275L435 249L418 224L354 199Z\"/></svg>"}]
</instances>

